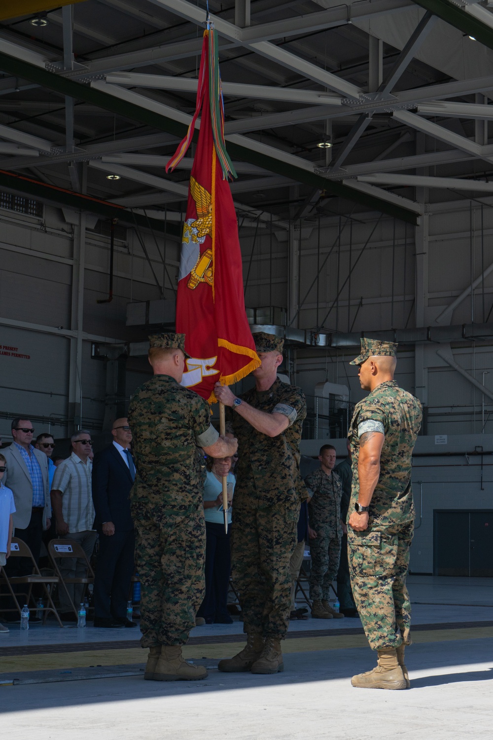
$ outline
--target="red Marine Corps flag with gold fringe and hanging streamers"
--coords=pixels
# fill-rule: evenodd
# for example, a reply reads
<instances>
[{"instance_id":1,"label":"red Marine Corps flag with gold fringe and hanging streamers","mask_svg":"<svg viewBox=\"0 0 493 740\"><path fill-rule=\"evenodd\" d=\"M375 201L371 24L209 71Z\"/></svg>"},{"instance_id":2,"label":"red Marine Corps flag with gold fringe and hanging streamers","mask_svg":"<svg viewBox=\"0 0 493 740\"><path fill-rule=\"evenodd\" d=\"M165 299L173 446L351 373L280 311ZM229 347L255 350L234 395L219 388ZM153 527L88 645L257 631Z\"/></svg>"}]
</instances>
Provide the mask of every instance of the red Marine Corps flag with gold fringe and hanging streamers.
<instances>
[{"instance_id":1,"label":"red Marine Corps flag with gold fringe and hanging streamers","mask_svg":"<svg viewBox=\"0 0 493 740\"><path fill-rule=\"evenodd\" d=\"M177 332L186 334L182 385L215 402L214 383L236 383L260 365L245 312L237 215L228 184L236 177L224 142L217 32L204 33L197 106L166 172L200 132L191 168L177 292Z\"/></svg>"}]
</instances>

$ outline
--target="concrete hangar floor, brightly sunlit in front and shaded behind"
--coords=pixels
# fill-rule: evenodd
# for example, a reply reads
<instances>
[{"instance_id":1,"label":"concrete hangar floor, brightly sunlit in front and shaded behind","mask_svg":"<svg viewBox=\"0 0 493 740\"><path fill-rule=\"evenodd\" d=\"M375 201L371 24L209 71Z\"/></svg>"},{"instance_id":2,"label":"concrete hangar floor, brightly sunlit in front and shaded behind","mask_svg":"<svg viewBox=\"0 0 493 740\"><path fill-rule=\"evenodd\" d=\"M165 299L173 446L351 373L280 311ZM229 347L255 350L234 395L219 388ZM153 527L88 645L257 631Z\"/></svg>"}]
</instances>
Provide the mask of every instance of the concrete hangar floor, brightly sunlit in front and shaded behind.
<instances>
[{"instance_id":1,"label":"concrete hangar floor, brightly sunlit in front and shaded behind","mask_svg":"<svg viewBox=\"0 0 493 740\"><path fill-rule=\"evenodd\" d=\"M350 676L374 665L370 648L319 650L305 639L306 649L285 653L285 672L276 676L213 669L201 682L161 684L127 676L0 687L1 735L9 740L28 735L42 740L492 737L493 629L458 624L493 621L492 579L410 576L409 591L412 602L419 602L413 606L415 625L436 625L416 630L415 645L407 650L409 691L354 689ZM459 629L445 629L446 624ZM359 625L358 619L309 619L293 622L290 631L329 628L336 635ZM211 625L196 628L193 636L241 630L239 622ZM12 628L0 650L7 645L135 641L136 632L50 625L34 627L25 636Z\"/></svg>"}]
</instances>

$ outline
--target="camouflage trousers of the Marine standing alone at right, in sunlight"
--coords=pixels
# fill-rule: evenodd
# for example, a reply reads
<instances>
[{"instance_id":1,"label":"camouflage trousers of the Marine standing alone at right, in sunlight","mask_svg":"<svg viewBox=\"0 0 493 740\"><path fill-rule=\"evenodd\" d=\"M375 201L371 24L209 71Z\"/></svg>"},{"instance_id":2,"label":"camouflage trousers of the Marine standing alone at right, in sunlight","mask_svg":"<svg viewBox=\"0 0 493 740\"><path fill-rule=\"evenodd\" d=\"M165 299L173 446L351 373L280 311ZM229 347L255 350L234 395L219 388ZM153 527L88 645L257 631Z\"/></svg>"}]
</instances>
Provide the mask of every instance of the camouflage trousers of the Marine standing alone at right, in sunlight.
<instances>
[{"instance_id":1,"label":"camouflage trousers of the Marine standing alone at right, in sunlight","mask_svg":"<svg viewBox=\"0 0 493 740\"><path fill-rule=\"evenodd\" d=\"M411 605L406 588L414 522L348 527L351 586L372 650L410 645Z\"/></svg>"}]
</instances>

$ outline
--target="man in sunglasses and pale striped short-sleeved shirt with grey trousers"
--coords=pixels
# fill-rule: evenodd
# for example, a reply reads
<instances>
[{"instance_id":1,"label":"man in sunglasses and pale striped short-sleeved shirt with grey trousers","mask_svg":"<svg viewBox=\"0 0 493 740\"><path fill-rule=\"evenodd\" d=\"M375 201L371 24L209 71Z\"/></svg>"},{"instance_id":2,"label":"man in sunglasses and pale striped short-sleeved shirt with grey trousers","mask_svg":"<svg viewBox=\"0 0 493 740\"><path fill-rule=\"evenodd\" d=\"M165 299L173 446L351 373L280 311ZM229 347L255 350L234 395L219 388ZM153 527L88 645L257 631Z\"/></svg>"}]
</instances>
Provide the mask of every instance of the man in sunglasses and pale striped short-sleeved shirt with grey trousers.
<instances>
[{"instance_id":1,"label":"man in sunglasses and pale striped short-sleeved shirt with grey trousers","mask_svg":"<svg viewBox=\"0 0 493 740\"><path fill-rule=\"evenodd\" d=\"M53 514L58 536L74 539L81 545L87 559L90 559L97 534L93 529L95 511L91 491L92 464L89 460L92 440L89 431L79 429L72 434L70 441L72 454L58 465L53 477L51 490ZM86 564L81 558L63 558L60 560L60 571L64 580L83 578L86 576ZM83 584L67 584L75 608L78 608L81 602L83 588ZM77 622L67 593L61 588L59 594L61 619Z\"/></svg>"}]
</instances>

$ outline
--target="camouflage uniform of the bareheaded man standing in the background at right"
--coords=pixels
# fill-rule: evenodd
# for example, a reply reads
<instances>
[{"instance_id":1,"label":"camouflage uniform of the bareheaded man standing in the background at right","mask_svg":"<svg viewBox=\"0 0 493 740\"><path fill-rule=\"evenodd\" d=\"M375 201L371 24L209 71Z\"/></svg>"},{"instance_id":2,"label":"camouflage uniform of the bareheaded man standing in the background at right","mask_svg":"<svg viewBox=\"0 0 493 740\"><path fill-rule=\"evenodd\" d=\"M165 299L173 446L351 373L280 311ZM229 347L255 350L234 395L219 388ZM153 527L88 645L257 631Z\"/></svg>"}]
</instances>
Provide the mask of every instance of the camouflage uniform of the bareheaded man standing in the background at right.
<instances>
[{"instance_id":1,"label":"camouflage uniform of the bareheaded man standing in the background at right","mask_svg":"<svg viewBox=\"0 0 493 740\"><path fill-rule=\"evenodd\" d=\"M312 497L308 504L310 527L316 531L316 539L310 539L310 599L328 601L341 553L341 479L337 473L327 475L319 468L305 483Z\"/></svg>"}]
</instances>

